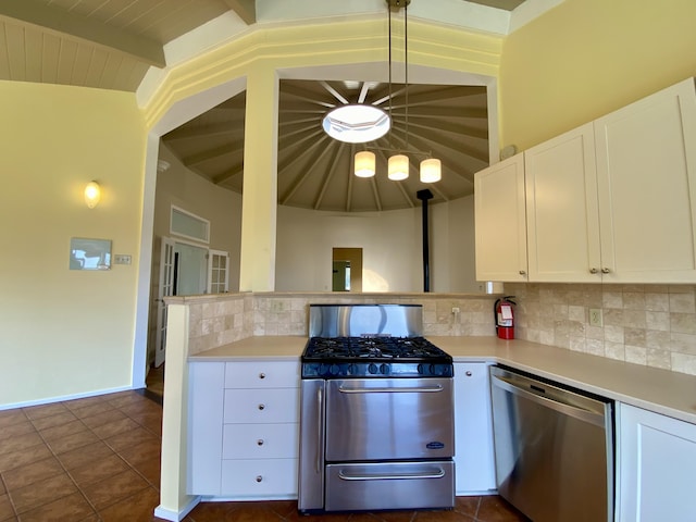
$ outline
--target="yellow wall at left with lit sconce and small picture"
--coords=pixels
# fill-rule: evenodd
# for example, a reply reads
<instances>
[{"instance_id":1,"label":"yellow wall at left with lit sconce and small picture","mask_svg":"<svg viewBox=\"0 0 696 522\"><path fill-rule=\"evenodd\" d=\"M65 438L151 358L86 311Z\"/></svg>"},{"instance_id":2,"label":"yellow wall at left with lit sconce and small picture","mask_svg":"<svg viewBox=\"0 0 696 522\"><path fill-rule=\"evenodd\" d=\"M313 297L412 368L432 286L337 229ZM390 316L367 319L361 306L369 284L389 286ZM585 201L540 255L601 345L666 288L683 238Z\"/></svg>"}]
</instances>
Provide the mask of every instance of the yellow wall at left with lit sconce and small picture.
<instances>
[{"instance_id":1,"label":"yellow wall at left with lit sconce and small picture","mask_svg":"<svg viewBox=\"0 0 696 522\"><path fill-rule=\"evenodd\" d=\"M129 387L145 125L135 96L0 83L0 408ZM96 209L86 183L103 188ZM69 270L71 237L133 256Z\"/></svg>"}]
</instances>

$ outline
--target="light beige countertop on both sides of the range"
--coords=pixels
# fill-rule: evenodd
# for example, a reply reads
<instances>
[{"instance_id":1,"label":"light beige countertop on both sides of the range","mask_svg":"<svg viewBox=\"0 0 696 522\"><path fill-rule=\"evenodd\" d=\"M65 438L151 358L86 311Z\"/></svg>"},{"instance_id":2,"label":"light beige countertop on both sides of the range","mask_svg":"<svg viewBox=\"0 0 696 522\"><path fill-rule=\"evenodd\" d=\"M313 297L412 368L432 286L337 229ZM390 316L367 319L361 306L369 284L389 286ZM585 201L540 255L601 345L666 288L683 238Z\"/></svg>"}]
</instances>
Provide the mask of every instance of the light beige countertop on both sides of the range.
<instances>
[{"instance_id":1,"label":"light beige countertop on both sides of the range","mask_svg":"<svg viewBox=\"0 0 696 522\"><path fill-rule=\"evenodd\" d=\"M426 336L455 362L492 361L586 391L696 424L696 376L562 348L497 337ZM250 337L188 358L189 361L296 360L307 337Z\"/></svg>"}]
</instances>

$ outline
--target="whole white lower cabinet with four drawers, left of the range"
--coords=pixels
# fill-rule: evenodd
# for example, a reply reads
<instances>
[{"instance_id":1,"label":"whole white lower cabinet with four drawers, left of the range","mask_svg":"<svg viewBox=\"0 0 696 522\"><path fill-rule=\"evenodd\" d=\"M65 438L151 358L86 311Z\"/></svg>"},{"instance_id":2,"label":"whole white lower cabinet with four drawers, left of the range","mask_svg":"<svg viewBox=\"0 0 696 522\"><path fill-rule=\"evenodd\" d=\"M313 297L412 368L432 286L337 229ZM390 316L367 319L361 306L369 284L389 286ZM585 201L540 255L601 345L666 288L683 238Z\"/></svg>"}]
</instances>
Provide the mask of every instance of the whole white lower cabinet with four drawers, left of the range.
<instances>
[{"instance_id":1,"label":"whole white lower cabinet with four drawers, left of the range","mask_svg":"<svg viewBox=\"0 0 696 522\"><path fill-rule=\"evenodd\" d=\"M191 362L188 493L297 497L299 361Z\"/></svg>"}]
</instances>

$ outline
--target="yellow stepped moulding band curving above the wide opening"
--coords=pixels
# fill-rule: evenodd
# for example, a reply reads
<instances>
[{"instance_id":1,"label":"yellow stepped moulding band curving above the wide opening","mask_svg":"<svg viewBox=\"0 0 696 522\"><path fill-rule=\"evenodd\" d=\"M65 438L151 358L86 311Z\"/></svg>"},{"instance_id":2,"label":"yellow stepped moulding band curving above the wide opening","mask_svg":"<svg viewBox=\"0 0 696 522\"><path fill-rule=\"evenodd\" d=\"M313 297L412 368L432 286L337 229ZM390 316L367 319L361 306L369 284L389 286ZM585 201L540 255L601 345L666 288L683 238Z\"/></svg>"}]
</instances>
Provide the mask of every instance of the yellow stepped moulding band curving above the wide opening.
<instances>
[{"instance_id":1,"label":"yellow stepped moulding band curving above the wide opening","mask_svg":"<svg viewBox=\"0 0 696 522\"><path fill-rule=\"evenodd\" d=\"M387 35L386 20L258 28L174 67L145 108L147 124L154 126L177 101L246 76L251 70L260 73L281 69L386 62ZM402 42L398 40L398 35L394 39L394 61L397 62L402 60ZM502 38L498 36L409 22L409 63L412 65L495 77L501 46ZM385 67L385 79L387 74Z\"/></svg>"}]
</instances>

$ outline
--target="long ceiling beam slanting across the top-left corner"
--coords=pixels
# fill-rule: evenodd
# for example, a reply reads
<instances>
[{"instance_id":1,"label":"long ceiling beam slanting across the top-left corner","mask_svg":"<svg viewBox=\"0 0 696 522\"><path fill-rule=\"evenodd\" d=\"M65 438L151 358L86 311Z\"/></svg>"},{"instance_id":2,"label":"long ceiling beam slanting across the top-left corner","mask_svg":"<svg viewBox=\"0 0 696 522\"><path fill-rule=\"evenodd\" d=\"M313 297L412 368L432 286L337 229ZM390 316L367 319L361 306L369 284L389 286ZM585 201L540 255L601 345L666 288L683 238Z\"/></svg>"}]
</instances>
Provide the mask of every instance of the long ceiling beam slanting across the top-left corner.
<instances>
[{"instance_id":1,"label":"long ceiling beam slanting across the top-left corner","mask_svg":"<svg viewBox=\"0 0 696 522\"><path fill-rule=\"evenodd\" d=\"M65 38L86 40L149 65L166 65L161 44L36 0L0 2L0 17L36 25Z\"/></svg>"}]
</instances>

